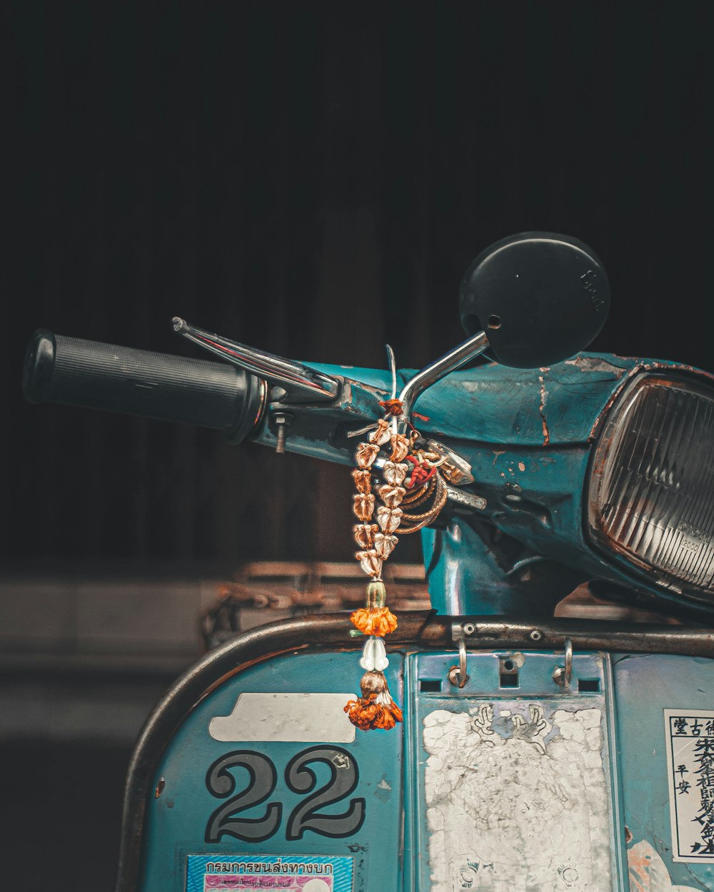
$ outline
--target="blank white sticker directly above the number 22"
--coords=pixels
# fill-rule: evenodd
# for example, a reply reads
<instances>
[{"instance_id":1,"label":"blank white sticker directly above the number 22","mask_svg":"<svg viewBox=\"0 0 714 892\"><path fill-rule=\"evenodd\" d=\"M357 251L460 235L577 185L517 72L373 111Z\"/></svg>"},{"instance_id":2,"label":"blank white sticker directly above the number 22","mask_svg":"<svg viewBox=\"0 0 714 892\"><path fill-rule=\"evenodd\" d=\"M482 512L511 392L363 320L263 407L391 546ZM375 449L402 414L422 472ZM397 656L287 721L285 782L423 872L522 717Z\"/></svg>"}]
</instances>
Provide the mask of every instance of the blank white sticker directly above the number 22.
<instances>
[{"instance_id":1,"label":"blank white sticker directly above the number 22","mask_svg":"<svg viewBox=\"0 0 714 892\"><path fill-rule=\"evenodd\" d=\"M353 743L345 714L354 694L241 694L230 715L216 715L208 731L225 743L281 740L288 743Z\"/></svg>"}]
</instances>

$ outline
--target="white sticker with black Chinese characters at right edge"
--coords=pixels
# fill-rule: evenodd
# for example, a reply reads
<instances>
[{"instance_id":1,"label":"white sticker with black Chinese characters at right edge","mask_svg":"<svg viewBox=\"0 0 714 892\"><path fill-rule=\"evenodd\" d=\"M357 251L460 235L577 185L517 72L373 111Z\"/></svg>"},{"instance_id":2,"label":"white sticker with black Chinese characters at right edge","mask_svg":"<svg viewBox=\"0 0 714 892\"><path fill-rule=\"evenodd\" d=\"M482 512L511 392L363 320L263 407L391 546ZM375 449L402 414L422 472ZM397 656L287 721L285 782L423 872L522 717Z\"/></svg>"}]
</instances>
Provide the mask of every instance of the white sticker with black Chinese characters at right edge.
<instances>
[{"instance_id":1,"label":"white sticker with black Chinese characters at right edge","mask_svg":"<svg viewBox=\"0 0 714 892\"><path fill-rule=\"evenodd\" d=\"M714 712L665 709L672 860L714 864Z\"/></svg>"}]
</instances>

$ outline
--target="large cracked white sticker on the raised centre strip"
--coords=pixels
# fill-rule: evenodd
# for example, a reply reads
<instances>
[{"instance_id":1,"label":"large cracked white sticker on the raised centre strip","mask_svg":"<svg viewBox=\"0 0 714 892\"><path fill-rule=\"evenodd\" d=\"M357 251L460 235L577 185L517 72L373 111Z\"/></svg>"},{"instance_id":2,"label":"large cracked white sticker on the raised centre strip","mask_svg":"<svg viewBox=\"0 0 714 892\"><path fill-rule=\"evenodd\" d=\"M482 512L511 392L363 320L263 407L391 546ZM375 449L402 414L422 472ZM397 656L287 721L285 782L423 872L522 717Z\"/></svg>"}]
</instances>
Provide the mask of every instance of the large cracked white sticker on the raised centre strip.
<instances>
[{"instance_id":1,"label":"large cracked white sticker on the raised centre strip","mask_svg":"<svg viewBox=\"0 0 714 892\"><path fill-rule=\"evenodd\" d=\"M611 892L602 710L563 706L493 702L425 717L432 892Z\"/></svg>"}]
</instances>

